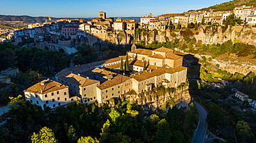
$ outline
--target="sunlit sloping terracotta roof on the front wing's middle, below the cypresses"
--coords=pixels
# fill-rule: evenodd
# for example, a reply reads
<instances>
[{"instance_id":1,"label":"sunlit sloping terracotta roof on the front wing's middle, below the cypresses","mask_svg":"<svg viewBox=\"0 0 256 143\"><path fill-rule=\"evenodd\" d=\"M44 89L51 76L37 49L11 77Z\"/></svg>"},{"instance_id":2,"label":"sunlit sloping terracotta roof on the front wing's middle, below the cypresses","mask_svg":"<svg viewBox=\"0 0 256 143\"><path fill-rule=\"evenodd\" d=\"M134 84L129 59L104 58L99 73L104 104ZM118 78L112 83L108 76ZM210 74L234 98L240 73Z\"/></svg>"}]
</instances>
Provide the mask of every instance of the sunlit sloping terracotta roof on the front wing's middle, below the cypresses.
<instances>
[{"instance_id":1,"label":"sunlit sloping terracotta roof on the front wing's middle, below the cypresses","mask_svg":"<svg viewBox=\"0 0 256 143\"><path fill-rule=\"evenodd\" d=\"M124 83L126 80L129 80L129 77L118 74L118 76L113 77L111 80L106 80L104 83L98 85L98 88L107 89L109 87Z\"/></svg>"}]
</instances>

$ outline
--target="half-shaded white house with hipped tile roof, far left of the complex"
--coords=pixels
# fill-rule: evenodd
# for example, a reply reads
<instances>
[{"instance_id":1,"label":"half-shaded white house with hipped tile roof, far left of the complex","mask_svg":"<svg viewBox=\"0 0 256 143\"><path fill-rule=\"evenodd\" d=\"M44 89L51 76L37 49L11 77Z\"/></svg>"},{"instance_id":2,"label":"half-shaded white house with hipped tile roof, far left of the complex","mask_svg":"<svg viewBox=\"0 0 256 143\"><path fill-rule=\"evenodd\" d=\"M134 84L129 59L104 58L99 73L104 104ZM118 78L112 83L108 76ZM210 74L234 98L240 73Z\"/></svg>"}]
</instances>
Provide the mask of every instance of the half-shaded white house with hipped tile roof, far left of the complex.
<instances>
[{"instance_id":1,"label":"half-shaded white house with hipped tile roof, far left of the complex","mask_svg":"<svg viewBox=\"0 0 256 143\"><path fill-rule=\"evenodd\" d=\"M41 107L55 108L77 100L77 96L69 97L68 86L53 80L43 80L24 90L26 100Z\"/></svg>"}]
</instances>

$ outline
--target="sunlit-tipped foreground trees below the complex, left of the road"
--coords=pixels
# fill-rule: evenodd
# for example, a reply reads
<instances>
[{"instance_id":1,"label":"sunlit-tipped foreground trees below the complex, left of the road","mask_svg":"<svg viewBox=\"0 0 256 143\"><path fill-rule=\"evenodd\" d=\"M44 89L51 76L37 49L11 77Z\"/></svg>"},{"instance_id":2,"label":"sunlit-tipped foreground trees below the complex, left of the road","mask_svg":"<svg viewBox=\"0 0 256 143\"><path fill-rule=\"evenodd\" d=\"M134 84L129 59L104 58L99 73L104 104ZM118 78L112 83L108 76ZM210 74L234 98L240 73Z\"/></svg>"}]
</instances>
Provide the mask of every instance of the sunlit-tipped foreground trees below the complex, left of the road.
<instances>
[{"instance_id":1,"label":"sunlit-tipped foreground trees below the complex, left of the road","mask_svg":"<svg viewBox=\"0 0 256 143\"><path fill-rule=\"evenodd\" d=\"M145 111L126 100L118 104L83 105L79 102L55 111L12 98L12 110L0 129L0 142L190 142L199 119L194 104L188 111Z\"/></svg>"}]
</instances>

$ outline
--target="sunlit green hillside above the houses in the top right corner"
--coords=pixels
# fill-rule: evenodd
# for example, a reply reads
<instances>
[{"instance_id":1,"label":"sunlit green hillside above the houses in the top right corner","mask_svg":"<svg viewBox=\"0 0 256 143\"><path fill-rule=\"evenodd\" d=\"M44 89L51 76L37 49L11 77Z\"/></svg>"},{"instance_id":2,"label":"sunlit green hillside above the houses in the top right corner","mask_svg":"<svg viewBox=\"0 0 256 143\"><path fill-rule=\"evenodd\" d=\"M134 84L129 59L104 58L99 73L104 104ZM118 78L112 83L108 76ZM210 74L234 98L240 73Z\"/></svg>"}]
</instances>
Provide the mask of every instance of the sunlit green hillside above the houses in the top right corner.
<instances>
[{"instance_id":1,"label":"sunlit green hillside above the houses in the top right corner","mask_svg":"<svg viewBox=\"0 0 256 143\"><path fill-rule=\"evenodd\" d=\"M234 10L235 7L241 6L241 5L256 5L256 0L234 0L229 1L226 3L221 3L217 5L212 5L208 8L202 8L201 11L209 11L212 9L214 12L216 11L225 11L225 10Z\"/></svg>"}]
</instances>

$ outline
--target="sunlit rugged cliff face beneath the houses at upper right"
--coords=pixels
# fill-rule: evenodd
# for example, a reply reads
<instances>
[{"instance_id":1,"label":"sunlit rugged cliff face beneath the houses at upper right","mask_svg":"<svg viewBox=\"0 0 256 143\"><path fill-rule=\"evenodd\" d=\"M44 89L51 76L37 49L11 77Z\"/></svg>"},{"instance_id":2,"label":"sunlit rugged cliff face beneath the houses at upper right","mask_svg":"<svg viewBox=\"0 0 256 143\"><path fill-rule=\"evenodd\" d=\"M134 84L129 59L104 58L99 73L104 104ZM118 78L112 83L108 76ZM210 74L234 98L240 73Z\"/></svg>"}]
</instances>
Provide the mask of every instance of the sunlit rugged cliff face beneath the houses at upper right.
<instances>
[{"instance_id":1,"label":"sunlit rugged cliff face beneath the houses at upper right","mask_svg":"<svg viewBox=\"0 0 256 143\"><path fill-rule=\"evenodd\" d=\"M212 28L204 32L203 28L199 28L199 34L195 35L197 41L201 41L203 44L223 43L225 41L235 39L242 43L248 43L249 45L256 45L256 28L246 28L243 26L233 26L223 32L222 28L217 28L217 32L213 32Z\"/></svg>"}]
</instances>

